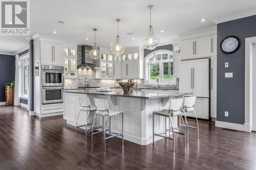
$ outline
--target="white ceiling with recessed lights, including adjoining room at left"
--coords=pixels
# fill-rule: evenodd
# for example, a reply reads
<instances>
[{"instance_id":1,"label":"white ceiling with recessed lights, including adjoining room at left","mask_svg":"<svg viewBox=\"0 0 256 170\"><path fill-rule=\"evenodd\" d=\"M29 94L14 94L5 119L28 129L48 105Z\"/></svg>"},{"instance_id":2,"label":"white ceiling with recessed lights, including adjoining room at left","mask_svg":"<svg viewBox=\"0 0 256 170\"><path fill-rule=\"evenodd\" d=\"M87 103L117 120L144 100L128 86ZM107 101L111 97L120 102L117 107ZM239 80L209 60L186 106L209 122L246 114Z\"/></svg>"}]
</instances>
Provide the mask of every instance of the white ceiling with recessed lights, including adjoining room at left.
<instances>
[{"instance_id":1,"label":"white ceiling with recessed lights, including adjoining room at left","mask_svg":"<svg viewBox=\"0 0 256 170\"><path fill-rule=\"evenodd\" d=\"M116 18L121 18L119 33L126 47L141 44L147 35L149 11L152 10L154 33L160 42L179 34L215 26L216 22L232 16L256 14L255 0L30 0L31 35L42 33L58 36L80 44L92 45L93 28L97 28L99 46L110 47L117 33ZM201 22L204 18L205 22ZM232 18L233 19L233 18ZM57 20L64 20L60 25ZM164 30L164 32L160 32ZM56 31L57 34L53 34ZM126 33L134 35L126 35ZM135 39L132 40L132 37ZM86 40L89 38L89 40ZM22 36L0 36L0 52L15 53L28 44Z\"/></svg>"}]
</instances>

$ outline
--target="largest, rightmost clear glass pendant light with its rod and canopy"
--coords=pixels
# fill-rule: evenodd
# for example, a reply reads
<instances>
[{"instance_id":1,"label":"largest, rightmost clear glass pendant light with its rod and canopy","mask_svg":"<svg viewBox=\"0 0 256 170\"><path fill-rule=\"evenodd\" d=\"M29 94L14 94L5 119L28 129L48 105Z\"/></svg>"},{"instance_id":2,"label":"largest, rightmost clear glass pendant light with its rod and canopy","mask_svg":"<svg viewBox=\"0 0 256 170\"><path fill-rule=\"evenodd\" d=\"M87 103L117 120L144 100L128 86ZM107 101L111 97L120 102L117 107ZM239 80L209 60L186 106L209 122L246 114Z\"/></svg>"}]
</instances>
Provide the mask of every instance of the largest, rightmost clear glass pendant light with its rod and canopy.
<instances>
[{"instance_id":1,"label":"largest, rightmost clear glass pendant light with its rod and canopy","mask_svg":"<svg viewBox=\"0 0 256 170\"><path fill-rule=\"evenodd\" d=\"M159 42L159 38L154 36L153 26L151 25L151 9L153 7L153 5L147 6L147 8L150 9L150 27L148 27L148 34L145 38L143 38L142 42L147 50L154 50Z\"/></svg>"}]
</instances>

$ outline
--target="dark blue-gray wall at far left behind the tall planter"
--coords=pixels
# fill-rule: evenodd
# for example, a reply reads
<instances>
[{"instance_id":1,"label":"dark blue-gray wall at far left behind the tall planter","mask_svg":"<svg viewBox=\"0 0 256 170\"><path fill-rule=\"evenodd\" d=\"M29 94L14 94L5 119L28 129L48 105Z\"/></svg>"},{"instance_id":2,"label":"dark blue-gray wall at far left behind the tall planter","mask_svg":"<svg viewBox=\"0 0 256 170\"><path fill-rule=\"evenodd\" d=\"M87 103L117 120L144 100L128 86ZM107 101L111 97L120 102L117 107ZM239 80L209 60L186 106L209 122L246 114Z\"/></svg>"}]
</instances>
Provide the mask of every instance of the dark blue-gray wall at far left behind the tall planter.
<instances>
[{"instance_id":1,"label":"dark blue-gray wall at far left behind the tall planter","mask_svg":"<svg viewBox=\"0 0 256 170\"><path fill-rule=\"evenodd\" d=\"M15 56L0 54L0 102L5 102L5 83L15 80Z\"/></svg>"}]
</instances>

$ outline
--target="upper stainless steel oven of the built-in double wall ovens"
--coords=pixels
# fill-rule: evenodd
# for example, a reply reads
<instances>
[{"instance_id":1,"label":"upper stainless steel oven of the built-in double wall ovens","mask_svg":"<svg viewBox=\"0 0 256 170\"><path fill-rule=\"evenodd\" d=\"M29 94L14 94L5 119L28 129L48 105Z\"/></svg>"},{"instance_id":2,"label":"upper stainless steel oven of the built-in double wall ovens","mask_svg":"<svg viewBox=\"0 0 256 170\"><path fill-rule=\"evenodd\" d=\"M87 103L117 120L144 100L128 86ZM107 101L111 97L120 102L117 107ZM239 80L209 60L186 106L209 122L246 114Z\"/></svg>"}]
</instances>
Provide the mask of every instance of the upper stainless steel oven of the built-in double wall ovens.
<instances>
[{"instance_id":1,"label":"upper stainless steel oven of the built-in double wall ovens","mask_svg":"<svg viewBox=\"0 0 256 170\"><path fill-rule=\"evenodd\" d=\"M64 86L64 67L42 65L42 87Z\"/></svg>"}]
</instances>

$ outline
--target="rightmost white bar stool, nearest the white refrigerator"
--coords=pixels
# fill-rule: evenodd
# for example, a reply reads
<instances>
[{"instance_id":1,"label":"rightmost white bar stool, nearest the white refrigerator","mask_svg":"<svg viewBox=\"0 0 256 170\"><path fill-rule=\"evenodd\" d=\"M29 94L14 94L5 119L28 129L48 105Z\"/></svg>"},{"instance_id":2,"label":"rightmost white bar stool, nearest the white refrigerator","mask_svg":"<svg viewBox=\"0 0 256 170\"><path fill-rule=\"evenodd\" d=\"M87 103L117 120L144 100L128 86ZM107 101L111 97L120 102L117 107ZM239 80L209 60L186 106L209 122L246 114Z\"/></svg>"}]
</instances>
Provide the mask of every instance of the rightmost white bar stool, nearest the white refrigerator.
<instances>
[{"instance_id":1,"label":"rightmost white bar stool, nearest the white refrigerator","mask_svg":"<svg viewBox=\"0 0 256 170\"><path fill-rule=\"evenodd\" d=\"M198 119L197 119L197 114L194 108L194 105L196 103L196 96L184 96L183 98L183 113L184 113L184 117L185 117L185 122L188 128L193 128L193 129L197 129L197 138L199 139L199 124L198 124ZM186 117L186 113L185 112L194 112L196 120L197 120L197 127L193 127L193 126L188 126L187 124L187 117ZM188 128L187 129L187 142L188 142Z\"/></svg>"}]
</instances>

